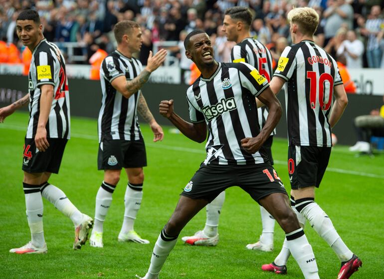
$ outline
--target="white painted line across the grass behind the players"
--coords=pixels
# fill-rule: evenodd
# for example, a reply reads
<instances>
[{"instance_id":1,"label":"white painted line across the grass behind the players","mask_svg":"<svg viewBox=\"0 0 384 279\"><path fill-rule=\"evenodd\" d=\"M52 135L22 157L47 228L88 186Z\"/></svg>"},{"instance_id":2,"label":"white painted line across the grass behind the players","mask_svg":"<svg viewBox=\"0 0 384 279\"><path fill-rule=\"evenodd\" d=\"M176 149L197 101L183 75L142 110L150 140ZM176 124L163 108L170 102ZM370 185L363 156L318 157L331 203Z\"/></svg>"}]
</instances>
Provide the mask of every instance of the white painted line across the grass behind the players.
<instances>
[{"instance_id":1,"label":"white painted line across the grass behind the players","mask_svg":"<svg viewBox=\"0 0 384 279\"><path fill-rule=\"evenodd\" d=\"M6 124L0 124L0 128L8 129L8 130L16 130L16 131L25 131L26 130L26 127L12 126L12 125L6 125ZM71 137L72 138L79 138L79 139L98 140L97 135L91 136L91 135L74 133L74 134L71 134ZM146 143L146 145L150 146L150 147L156 147L156 148L162 148L162 149L168 149L168 150L205 154L205 151L203 149L186 148L186 147L182 147L182 146L172 146L172 145L157 144L157 143ZM286 165L287 164L287 162L280 161L280 160L274 160L274 162L276 164L279 164L279 165ZM384 179L384 175L378 175L378 174L374 174L374 173L366 173L366 172L354 171L354 170L347 170L347 169L341 169L341 168L334 168L334 167L327 167L327 171Z\"/></svg>"}]
</instances>

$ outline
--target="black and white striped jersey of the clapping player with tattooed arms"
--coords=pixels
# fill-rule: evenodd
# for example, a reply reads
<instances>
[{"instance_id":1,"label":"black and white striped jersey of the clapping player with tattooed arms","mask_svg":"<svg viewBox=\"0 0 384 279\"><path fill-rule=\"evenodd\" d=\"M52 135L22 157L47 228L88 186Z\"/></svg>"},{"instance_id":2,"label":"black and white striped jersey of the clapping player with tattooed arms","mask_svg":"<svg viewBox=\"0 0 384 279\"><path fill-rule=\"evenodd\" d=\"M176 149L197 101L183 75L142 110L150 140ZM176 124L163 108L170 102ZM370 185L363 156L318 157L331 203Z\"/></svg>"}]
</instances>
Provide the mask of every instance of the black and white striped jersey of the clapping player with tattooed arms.
<instances>
[{"instance_id":1,"label":"black and white striped jersey of the clapping player with tattooed arms","mask_svg":"<svg viewBox=\"0 0 384 279\"><path fill-rule=\"evenodd\" d=\"M127 99L111 84L119 76L125 76L127 80L134 79L142 67L139 60L128 58L118 50L103 60L100 67L102 101L98 119L99 142L102 139L142 138L136 112L141 90Z\"/></svg>"}]
</instances>

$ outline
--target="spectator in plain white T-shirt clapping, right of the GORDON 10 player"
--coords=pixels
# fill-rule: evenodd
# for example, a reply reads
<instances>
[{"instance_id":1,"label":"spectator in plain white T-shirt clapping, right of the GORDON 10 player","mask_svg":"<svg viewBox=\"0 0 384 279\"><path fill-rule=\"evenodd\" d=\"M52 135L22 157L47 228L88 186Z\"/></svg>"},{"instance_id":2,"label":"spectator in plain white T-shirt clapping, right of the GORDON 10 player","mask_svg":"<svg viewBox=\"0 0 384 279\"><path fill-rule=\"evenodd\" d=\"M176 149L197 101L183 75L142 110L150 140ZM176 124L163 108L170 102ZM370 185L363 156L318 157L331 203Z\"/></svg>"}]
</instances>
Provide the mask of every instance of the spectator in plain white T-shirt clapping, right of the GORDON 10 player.
<instances>
[{"instance_id":1,"label":"spectator in plain white T-shirt clapping, right of the GORDON 10 player","mask_svg":"<svg viewBox=\"0 0 384 279\"><path fill-rule=\"evenodd\" d=\"M354 30L349 30L347 32L347 39L341 43L337 50L337 55L344 55L347 60L345 65L349 69L353 69L363 67L363 53L364 44L357 39Z\"/></svg>"}]
</instances>

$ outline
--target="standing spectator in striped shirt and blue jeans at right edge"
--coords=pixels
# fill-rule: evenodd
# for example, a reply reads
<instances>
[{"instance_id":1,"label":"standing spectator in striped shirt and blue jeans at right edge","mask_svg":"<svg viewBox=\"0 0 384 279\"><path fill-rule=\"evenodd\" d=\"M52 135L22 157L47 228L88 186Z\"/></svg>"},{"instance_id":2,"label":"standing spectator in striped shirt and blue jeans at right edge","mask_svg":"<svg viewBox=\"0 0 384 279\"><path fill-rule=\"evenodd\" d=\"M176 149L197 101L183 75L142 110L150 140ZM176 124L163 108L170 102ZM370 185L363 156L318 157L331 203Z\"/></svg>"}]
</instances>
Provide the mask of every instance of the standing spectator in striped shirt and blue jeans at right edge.
<instances>
[{"instance_id":1,"label":"standing spectator in striped shirt and blue jeans at right edge","mask_svg":"<svg viewBox=\"0 0 384 279\"><path fill-rule=\"evenodd\" d=\"M370 68L380 68L383 51L380 48L378 35L381 31L384 20L380 18L382 9L379 5L371 8L371 13L364 28L360 29L362 35L368 37L367 61Z\"/></svg>"}]
</instances>

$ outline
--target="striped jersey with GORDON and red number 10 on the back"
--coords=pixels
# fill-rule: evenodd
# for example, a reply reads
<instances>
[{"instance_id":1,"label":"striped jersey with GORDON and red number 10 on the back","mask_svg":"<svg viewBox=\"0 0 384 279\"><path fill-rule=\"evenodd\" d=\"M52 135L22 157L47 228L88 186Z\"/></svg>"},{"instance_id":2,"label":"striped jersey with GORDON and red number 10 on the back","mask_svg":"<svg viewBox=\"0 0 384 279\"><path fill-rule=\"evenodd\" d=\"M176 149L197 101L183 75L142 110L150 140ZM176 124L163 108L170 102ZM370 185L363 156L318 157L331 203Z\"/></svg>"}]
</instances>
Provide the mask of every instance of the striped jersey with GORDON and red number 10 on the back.
<instances>
[{"instance_id":1,"label":"striped jersey with GORDON and red number 10 on the back","mask_svg":"<svg viewBox=\"0 0 384 279\"><path fill-rule=\"evenodd\" d=\"M288 144L331 146L334 86L343 84L335 59L313 41L287 46L274 76L283 78Z\"/></svg>"}]
</instances>

